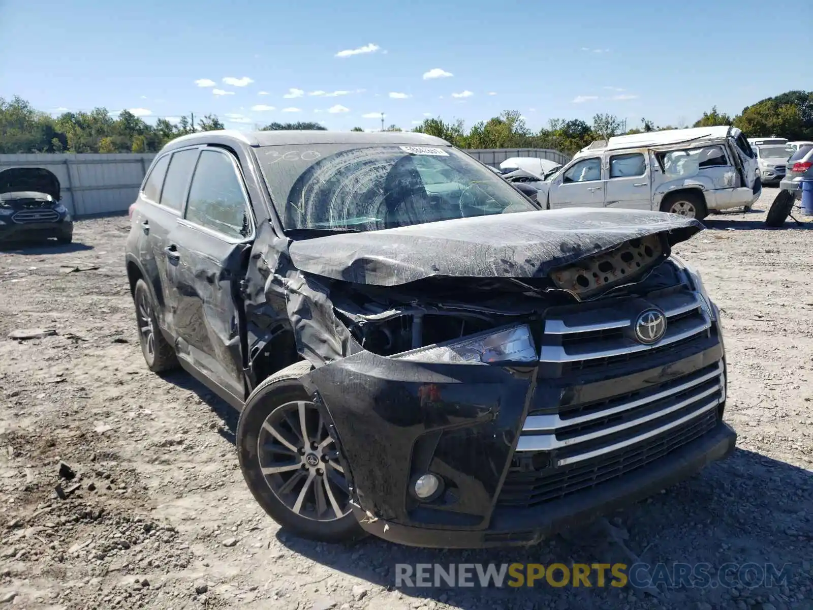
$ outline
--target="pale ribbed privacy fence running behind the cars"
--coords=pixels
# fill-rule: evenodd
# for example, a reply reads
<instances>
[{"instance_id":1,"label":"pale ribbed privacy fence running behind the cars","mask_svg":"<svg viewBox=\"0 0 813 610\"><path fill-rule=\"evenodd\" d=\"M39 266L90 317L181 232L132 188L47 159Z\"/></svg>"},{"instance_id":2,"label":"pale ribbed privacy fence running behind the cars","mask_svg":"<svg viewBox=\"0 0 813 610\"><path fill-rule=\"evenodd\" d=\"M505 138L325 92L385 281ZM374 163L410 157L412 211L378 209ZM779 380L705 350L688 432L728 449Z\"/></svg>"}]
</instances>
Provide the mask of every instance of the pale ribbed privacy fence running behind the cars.
<instances>
[{"instance_id":1,"label":"pale ribbed privacy fence running behind the cars","mask_svg":"<svg viewBox=\"0 0 813 610\"><path fill-rule=\"evenodd\" d=\"M559 150L499 148L466 150L486 165L498 167L511 157L539 157L556 163L570 159ZM0 155L0 172L9 168L46 168L59 178L62 202L73 216L104 216L127 211L155 153L114 155Z\"/></svg>"}]
</instances>

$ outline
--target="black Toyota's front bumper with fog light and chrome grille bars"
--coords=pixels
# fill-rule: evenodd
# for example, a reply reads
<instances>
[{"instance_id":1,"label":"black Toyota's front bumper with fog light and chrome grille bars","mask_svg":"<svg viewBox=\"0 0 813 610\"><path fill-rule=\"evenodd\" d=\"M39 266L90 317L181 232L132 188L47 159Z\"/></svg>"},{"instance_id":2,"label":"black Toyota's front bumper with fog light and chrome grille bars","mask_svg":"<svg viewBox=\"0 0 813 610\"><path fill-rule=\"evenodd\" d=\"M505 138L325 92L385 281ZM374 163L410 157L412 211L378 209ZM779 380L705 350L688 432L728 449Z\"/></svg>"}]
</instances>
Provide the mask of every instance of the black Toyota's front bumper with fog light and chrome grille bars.
<instances>
[{"instance_id":1,"label":"black Toyota's front bumper with fog light and chrome grille bars","mask_svg":"<svg viewBox=\"0 0 813 610\"><path fill-rule=\"evenodd\" d=\"M533 544L728 455L736 435L722 422L722 337L691 298L663 297L669 334L624 353L611 349L624 341L615 331L580 335L576 307L547 317L539 364L421 364L362 351L309 373L362 527L425 547ZM618 320L624 307L608 308ZM600 357L580 359L598 340ZM427 472L445 489L420 502L411 489Z\"/></svg>"}]
</instances>

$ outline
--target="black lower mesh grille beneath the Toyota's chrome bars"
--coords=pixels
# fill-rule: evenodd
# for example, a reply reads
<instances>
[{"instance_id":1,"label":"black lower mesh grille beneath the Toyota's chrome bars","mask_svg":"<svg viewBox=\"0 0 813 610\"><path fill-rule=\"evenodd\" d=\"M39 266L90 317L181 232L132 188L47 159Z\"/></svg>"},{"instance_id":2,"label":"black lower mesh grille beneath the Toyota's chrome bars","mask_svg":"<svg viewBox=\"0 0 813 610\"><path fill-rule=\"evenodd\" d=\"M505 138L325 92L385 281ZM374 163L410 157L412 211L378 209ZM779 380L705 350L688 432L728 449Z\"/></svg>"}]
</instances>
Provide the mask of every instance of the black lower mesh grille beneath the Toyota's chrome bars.
<instances>
[{"instance_id":1,"label":"black lower mesh grille beneath the Toyota's chrome bars","mask_svg":"<svg viewBox=\"0 0 813 610\"><path fill-rule=\"evenodd\" d=\"M674 426L666 434L659 434L619 451L598 455L563 468L527 470L523 466L523 460L528 458L533 460L533 455L517 455L512 460L503 483L498 506L511 508L534 506L623 477L700 438L710 432L716 424L717 412L716 409L712 409Z\"/></svg>"}]
</instances>

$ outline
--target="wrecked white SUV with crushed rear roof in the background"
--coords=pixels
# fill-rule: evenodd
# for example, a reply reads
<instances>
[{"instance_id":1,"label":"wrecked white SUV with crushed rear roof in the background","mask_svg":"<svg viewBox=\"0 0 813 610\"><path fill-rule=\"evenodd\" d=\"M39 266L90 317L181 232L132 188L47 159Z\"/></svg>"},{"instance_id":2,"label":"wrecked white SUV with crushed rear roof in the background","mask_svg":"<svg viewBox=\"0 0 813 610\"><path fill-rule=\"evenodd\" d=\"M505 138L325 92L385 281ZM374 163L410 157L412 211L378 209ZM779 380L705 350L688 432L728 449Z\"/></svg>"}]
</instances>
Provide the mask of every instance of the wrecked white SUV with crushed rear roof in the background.
<instances>
[{"instance_id":1,"label":"wrecked white SUV with crushed rear roof in the background","mask_svg":"<svg viewBox=\"0 0 813 610\"><path fill-rule=\"evenodd\" d=\"M722 126L593 142L537 188L548 209L631 207L702 219L709 211L750 209L762 181L746 137Z\"/></svg>"}]
</instances>

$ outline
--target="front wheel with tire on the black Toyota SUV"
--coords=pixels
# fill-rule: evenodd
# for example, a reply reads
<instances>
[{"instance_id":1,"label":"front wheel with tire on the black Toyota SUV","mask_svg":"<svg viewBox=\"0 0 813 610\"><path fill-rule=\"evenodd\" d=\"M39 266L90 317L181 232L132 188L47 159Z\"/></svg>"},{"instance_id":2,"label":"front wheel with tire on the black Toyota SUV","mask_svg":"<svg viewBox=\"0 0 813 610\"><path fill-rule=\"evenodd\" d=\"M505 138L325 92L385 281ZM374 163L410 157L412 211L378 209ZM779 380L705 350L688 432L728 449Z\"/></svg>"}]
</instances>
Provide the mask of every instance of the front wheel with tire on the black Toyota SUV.
<instances>
[{"instance_id":1,"label":"front wheel with tire on the black Toyota SUV","mask_svg":"<svg viewBox=\"0 0 813 610\"><path fill-rule=\"evenodd\" d=\"M237 424L240 468L283 528L318 542L354 542L366 534L350 509L333 421L299 381L310 370L305 361L291 364L251 393Z\"/></svg>"}]
</instances>

